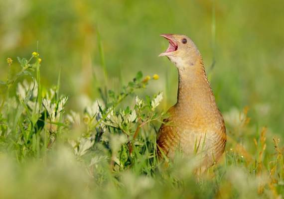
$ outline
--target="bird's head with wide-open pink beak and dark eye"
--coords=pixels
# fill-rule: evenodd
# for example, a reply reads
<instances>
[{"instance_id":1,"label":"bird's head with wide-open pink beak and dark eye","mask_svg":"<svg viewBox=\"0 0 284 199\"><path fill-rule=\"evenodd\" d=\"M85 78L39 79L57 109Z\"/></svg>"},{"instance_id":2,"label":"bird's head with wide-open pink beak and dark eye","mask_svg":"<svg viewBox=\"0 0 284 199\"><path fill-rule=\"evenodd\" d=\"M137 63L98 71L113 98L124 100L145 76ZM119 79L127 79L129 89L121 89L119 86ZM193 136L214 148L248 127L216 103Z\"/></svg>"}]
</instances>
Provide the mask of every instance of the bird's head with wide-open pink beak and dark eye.
<instances>
[{"instance_id":1,"label":"bird's head with wide-open pink beak and dark eye","mask_svg":"<svg viewBox=\"0 0 284 199\"><path fill-rule=\"evenodd\" d=\"M181 34L160 34L168 40L169 45L165 52L159 56L166 56L176 67L194 65L200 58L200 53L193 41Z\"/></svg>"}]
</instances>

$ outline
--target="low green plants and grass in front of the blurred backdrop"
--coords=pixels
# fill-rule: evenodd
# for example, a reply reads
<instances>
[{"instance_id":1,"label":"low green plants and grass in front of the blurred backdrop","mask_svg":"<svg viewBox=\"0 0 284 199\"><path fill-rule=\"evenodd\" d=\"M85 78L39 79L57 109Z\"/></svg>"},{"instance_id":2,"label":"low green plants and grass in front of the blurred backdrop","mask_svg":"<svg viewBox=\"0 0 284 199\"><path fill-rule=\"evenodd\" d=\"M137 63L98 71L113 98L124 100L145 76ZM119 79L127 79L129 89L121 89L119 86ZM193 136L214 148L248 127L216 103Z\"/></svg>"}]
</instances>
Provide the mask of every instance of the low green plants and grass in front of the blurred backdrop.
<instances>
[{"instance_id":1,"label":"low green plants and grass in front of the blurred backdrop","mask_svg":"<svg viewBox=\"0 0 284 199\"><path fill-rule=\"evenodd\" d=\"M1 198L282 198L282 142L256 127L248 108L224 113L226 151L197 177L194 157L156 157L163 93L141 90L157 75L139 72L120 92L103 86L99 99L75 112L66 110L60 72L57 85L44 88L39 54L17 61L18 73L0 82Z\"/></svg>"}]
</instances>

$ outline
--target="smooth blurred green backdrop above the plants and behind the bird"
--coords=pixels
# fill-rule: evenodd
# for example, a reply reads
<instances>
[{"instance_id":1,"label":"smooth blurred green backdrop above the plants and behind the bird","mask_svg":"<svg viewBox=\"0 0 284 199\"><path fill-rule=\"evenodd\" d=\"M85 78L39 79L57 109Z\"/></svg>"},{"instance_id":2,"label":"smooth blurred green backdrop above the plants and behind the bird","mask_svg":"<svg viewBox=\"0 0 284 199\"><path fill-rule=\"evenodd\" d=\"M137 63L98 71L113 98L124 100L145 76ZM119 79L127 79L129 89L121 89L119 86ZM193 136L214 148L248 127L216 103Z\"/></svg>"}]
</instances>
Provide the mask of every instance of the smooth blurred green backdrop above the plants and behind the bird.
<instances>
[{"instance_id":1,"label":"smooth blurred green backdrop above the plants and behind the bird","mask_svg":"<svg viewBox=\"0 0 284 199\"><path fill-rule=\"evenodd\" d=\"M138 71L158 74L149 93L164 91L166 109L176 100L177 71L157 57L167 47L159 34L186 34L203 55L221 111L249 106L254 123L282 134L283 8L283 0L0 0L0 79L7 57L30 57L38 42L42 84L55 85L61 68L61 93L70 109L82 108L105 85L99 32L108 88L118 90Z\"/></svg>"}]
</instances>

